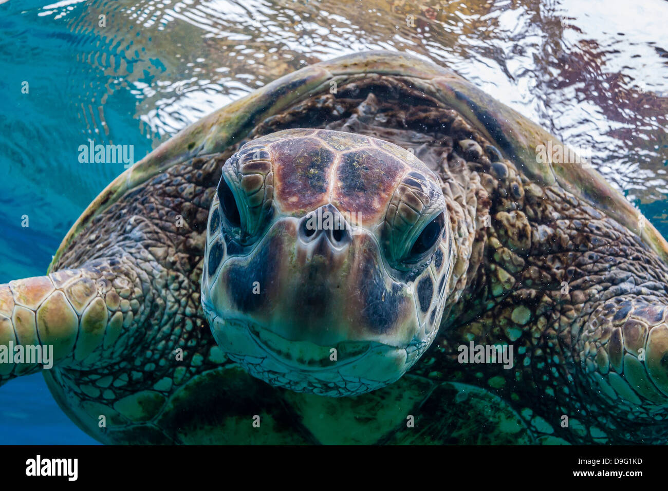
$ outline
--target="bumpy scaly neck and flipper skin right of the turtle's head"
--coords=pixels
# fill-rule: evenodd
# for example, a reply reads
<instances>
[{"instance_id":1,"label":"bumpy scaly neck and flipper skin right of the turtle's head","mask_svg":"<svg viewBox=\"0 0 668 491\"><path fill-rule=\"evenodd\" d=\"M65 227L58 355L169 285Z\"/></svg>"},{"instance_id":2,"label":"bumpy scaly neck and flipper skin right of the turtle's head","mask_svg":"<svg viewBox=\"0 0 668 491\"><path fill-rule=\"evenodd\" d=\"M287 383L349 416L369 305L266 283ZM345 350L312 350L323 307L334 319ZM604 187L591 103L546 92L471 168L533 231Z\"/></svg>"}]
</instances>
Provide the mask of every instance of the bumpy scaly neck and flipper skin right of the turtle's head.
<instances>
[{"instance_id":1,"label":"bumpy scaly neck and flipper skin right of the turtle's head","mask_svg":"<svg viewBox=\"0 0 668 491\"><path fill-rule=\"evenodd\" d=\"M412 373L512 401L541 441L665 441L665 263L568 192L537 186L507 160L470 158L491 200L481 267L444 318L434 363L428 353ZM457 363L471 339L512 345L512 369Z\"/></svg>"}]
</instances>

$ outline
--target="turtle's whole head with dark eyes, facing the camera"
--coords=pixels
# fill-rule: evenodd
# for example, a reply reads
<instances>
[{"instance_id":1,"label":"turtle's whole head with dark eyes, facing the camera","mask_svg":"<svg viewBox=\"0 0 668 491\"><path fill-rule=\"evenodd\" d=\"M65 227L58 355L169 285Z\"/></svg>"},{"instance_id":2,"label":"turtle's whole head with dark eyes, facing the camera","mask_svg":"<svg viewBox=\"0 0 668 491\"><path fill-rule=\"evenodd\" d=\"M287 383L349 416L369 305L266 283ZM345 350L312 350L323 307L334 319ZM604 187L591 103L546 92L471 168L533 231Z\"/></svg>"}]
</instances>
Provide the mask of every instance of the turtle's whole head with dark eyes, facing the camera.
<instances>
[{"instance_id":1,"label":"turtle's whole head with dark eyes, facing the camera","mask_svg":"<svg viewBox=\"0 0 668 491\"><path fill-rule=\"evenodd\" d=\"M222 168L202 305L251 375L342 396L397 380L436 337L452 265L439 180L382 140L285 130Z\"/></svg>"}]
</instances>

